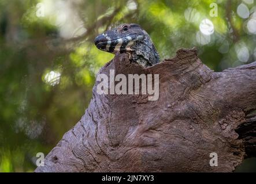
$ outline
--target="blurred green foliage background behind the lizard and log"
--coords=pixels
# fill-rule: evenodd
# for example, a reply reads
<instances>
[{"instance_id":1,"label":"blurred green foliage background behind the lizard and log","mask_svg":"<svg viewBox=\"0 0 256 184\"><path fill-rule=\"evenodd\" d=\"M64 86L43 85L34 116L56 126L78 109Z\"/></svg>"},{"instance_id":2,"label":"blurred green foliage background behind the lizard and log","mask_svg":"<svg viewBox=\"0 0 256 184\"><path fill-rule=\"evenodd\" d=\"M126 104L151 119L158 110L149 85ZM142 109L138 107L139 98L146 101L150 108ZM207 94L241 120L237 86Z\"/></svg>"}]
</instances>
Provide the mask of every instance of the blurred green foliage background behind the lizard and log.
<instances>
[{"instance_id":1,"label":"blurred green foliage background behind the lizard and log","mask_svg":"<svg viewBox=\"0 0 256 184\"><path fill-rule=\"evenodd\" d=\"M34 171L36 153L47 154L80 120L95 74L113 58L94 46L98 33L134 22L161 59L196 46L203 63L221 71L255 61L255 12L253 0L0 0L0 171ZM205 18L214 25L210 36L199 29Z\"/></svg>"}]
</instances>

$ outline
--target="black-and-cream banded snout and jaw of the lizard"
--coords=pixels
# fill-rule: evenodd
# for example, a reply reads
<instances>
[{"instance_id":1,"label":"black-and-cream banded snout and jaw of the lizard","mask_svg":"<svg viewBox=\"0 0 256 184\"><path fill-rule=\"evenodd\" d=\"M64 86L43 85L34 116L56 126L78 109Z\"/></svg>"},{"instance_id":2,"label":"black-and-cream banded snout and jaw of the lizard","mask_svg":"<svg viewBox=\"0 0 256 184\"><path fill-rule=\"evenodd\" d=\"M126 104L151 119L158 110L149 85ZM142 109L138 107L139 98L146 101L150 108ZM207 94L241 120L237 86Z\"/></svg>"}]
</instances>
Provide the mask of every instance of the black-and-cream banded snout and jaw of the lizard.
<instances>
[{"instance_id":1,"label":"black-and-cream banded snout and jaw of the lizard","mask_svg":"<svg viewBox=\"0 0 256 184\"><path fill-rule=\"evenodd\" d=\"M131 46L135 41L142 40L143 36L140 34L130 34L125 37L111 39L106 33L99 34L94 40L95 45L102 51L117 53L117 52L132 52Z\"/></svg>"}]
</instances>

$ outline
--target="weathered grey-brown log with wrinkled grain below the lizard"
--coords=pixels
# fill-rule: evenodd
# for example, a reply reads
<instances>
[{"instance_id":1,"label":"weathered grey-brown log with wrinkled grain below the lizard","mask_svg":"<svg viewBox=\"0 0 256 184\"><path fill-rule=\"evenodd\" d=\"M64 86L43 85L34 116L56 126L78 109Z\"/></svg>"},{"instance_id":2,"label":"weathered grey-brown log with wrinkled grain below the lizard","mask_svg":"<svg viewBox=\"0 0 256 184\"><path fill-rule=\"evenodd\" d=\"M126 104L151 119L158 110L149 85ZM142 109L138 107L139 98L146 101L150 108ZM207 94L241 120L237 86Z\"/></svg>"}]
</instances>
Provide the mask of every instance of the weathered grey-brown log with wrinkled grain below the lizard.
<instances>
[{"instance_id":1,"label":"weathered grey-brown log with wrinkled grain below the lizard","mask_svg":"<svg viewBox=\"0 0 256 184\"><path fill-rule=\"evenodd\" d=\"M159 99L99 95L36 172L223 172L256 154L256 62L213 72L193 49L143 69L123 53L99 73L159 74ZM218 154L218 166L209 164Z\"/></svg>"}]
</instances>

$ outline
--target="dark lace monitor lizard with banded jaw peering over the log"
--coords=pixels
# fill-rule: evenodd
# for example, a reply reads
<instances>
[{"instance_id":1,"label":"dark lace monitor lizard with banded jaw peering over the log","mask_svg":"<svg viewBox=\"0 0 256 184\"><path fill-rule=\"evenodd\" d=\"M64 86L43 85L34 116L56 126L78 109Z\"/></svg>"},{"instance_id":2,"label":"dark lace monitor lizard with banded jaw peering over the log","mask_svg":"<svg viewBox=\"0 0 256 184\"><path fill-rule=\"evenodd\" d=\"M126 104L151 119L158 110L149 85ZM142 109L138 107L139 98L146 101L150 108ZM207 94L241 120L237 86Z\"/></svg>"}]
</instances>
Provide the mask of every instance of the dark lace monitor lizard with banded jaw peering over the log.
<instances>
[{"instance_id":1,"label":"dark lace monitor lizard with banded jaw peering over the log","mask_svg":"<svg viewBox=\"0 0 256 184\"><path fill-rule=\"evenodd\" d=\"M98 49L110 53L128 53L131 62L143 67L159 63L159 55L149 34L138 24L121 24L99 34L94 43Z\"/></svg>"}]
</instances>

